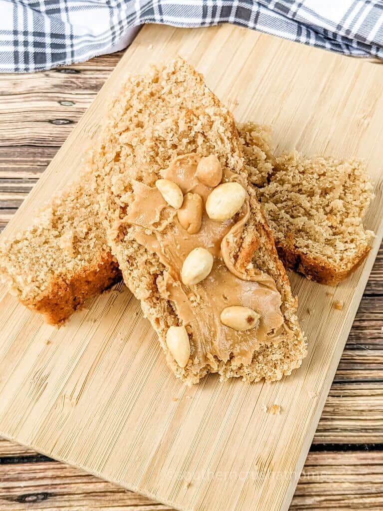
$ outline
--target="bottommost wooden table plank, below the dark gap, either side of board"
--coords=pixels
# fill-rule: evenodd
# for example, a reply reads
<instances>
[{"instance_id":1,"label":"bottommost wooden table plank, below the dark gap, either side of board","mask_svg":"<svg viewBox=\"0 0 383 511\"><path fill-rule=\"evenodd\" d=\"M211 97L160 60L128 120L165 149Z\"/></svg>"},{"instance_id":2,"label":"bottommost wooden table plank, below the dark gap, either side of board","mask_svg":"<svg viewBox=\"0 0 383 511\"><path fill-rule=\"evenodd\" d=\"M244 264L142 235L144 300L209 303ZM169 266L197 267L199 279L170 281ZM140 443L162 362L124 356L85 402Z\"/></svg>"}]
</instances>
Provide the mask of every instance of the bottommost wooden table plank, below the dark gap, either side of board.
<instances>
[{"instance_id":1,"label":"bottommost wooden table plank, below the dark gap, either side of board","mask_svg":"<svg viewBox=\"0 0 383 511\"><path fill-rule=\"evenodd\" d=\"M169 506L57 462L0 464L0 511L165 511ZM312 452L290 511L380 511L383 455Z\"/></svg>"}]
</instances>

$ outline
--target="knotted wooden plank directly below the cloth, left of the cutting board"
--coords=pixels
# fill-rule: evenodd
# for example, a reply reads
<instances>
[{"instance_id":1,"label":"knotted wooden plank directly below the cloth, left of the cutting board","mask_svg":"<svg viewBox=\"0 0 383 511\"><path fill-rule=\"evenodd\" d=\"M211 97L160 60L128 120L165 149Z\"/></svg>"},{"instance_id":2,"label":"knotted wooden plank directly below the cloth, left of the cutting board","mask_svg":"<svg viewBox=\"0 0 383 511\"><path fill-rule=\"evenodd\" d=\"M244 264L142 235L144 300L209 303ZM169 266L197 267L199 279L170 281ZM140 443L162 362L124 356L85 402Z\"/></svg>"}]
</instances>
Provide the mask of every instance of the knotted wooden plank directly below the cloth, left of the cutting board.
<instances>
[{"instance_id":1,"label":"knotted wooden plank directly below the cloth, left of the cutting board","mask_svg":"<svg viewBox=\"0 0 383 511\"><path fill-rule=\"evenodd\" d=\"M0 80L0 96L7 98L0 102L0 149L60 147L121 56L35 75L6 75Z\"/></svg>"}]
</instances>

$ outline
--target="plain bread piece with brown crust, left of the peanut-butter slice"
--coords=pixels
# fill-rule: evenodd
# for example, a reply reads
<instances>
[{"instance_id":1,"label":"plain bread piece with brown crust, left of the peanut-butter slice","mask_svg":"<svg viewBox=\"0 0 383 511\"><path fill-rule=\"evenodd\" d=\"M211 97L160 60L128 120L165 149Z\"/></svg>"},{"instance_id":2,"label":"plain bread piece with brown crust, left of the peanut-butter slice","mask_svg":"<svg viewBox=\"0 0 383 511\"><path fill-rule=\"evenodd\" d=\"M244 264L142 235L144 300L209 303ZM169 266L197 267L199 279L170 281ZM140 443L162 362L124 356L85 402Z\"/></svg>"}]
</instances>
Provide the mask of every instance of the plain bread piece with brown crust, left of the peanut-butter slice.
<instances>
[{"instance_id":1,"label":"plain bread piece with brown crust, left of the peanut-butter slice","mask_svg":"<svg viewBox=\"0 0 383 511\"><path fill-rule=\"evenodd\" d=\"M47 204L31 226L0 246L0 276L51 324L121 277L106 244L95 180L88 174Z\"/></svg>"}]
</instances>

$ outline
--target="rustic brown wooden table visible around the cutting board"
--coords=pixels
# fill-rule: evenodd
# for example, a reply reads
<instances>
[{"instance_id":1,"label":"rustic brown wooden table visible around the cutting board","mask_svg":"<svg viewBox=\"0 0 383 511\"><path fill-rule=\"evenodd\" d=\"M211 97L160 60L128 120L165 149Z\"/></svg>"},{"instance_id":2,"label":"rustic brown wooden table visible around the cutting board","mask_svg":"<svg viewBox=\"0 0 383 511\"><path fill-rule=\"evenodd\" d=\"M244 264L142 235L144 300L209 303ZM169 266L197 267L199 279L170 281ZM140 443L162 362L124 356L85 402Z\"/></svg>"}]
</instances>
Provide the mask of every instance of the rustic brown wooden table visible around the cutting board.
<instances>
[{"instance_id":1,"label":"rustic brown wooden table visible around the cutting board","mask_svg":"<svg viewBox=\"0 0 383 511\"><path fill-rule=\"evenodd\" d=\"M0 75L0 227L17 210L121 54ZM48 198L48 197L47 197ZM383 246L356 315L292 510L383 509ZM149 501L0 438L0 511L149 511Z\"/></svg>"}]
</instances>

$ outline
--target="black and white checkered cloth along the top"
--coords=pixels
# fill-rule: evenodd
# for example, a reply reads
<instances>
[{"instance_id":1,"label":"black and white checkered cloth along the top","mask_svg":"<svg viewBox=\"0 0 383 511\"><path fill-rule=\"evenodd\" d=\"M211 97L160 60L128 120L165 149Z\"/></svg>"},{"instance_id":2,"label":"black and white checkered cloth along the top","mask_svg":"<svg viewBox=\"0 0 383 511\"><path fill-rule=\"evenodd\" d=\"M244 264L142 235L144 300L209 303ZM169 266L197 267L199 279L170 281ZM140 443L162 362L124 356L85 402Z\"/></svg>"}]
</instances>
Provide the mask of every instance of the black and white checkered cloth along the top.
<instances>
[{"instance_id":1,"label":"black and white checkered cloth along the top","mask_svg":"<svg viewBox=\"0 0 383 511\"><path fill-rule=\"evenodd\" d=\"M0 0L0 71L42 71L125 48L135 27L233 23L383 58L382 0Z\"/></svg>"}]
</instances>

